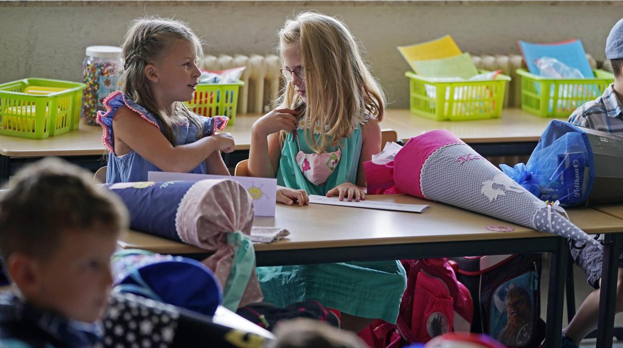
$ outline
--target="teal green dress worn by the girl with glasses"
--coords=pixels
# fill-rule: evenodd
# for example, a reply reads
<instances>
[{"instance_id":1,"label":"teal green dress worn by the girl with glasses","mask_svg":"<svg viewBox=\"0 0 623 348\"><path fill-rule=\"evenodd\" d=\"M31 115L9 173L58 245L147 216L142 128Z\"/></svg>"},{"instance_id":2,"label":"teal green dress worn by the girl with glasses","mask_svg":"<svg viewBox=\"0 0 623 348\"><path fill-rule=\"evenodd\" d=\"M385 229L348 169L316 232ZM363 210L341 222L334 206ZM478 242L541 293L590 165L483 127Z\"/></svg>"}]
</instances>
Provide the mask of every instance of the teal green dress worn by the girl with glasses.
<instances>
[{"instance_id":1,"label":"teal green dress worn by the girl with glasses","mask_svg":"<svg viewBox=\"0 0 623 348\"><path fill-rule=\"evenodd\" d=\"M303 129L297 129L297 136L301 150L312 153L305 143ZM316 186L305 178L298 167L295 160L297 141L293 140L292 133L288 134L282 148L277 184L305 189L308 194L325 195L343 182L356 183L361 154L359 123L340 145L338 166L325 184ZM328 149L330 151L336 151L336 148ZM356 233L356 228L354 225L353 233ZM392 324L396 323L402 293L407 286L406 272L396 260L259 267L257 275L264 301L276 306L317 300L328 308L353 316L383 319Z\"/></svg>"}]
</instances>

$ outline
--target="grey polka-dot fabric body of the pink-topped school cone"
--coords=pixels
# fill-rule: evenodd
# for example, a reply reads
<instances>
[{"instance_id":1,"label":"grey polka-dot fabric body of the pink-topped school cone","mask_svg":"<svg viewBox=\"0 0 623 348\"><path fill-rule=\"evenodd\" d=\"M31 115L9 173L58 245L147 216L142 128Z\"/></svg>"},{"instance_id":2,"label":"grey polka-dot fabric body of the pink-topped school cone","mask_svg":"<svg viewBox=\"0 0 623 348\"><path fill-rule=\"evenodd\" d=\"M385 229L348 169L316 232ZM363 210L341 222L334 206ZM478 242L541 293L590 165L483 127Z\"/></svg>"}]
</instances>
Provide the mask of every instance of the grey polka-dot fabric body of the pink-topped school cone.
<instances>
[{"instance_id":1,"label":"grey polka-dot fabric body of the pink-topped school cone","mask_svg":"<svg viewBox=\"0 0 623 348\"><path fill-rule=\"evenodd\" d=\"M430 154L422 164L420 186L422 194L430 200L579 242L597 243L554 209L551 209L552 228L549 228L548 205L465 143L448 144Z\"/></svg>"}]
</instances>

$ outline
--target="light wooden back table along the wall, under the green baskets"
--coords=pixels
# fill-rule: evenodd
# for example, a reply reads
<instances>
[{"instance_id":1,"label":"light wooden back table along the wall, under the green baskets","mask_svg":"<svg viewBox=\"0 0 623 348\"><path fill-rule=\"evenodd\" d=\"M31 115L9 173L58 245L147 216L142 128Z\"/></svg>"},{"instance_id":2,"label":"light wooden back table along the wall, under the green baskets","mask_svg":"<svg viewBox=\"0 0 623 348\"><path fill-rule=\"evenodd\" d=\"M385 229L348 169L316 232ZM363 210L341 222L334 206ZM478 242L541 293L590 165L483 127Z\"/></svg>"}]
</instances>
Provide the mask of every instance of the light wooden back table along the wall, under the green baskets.
<instances>
[{"instance_id":1,"label":"light wooden back table along the wall, under the green baskets","mask_svg":"<svg viewBox=\"0 0 623 348\"><path fill-rule=\"evenodd\" d=\"M227 126L226 131L234 136L236 150L224 154L229 167L249 158L251 126L261 116L237 115L235 125ZM388 110L381 128L396 130L398 138L405 141L422 131L447 129L483 156L506 156L530 154L549 121L518 108L503 110L501 118L462 122L437 122L411 115L409 110ZM105 166L105 154L100 126L80 125L77 131L40 140L0 136L0 183L20 165L45 156L60 156L94 172Z\"/></svg>"}]
</instances>

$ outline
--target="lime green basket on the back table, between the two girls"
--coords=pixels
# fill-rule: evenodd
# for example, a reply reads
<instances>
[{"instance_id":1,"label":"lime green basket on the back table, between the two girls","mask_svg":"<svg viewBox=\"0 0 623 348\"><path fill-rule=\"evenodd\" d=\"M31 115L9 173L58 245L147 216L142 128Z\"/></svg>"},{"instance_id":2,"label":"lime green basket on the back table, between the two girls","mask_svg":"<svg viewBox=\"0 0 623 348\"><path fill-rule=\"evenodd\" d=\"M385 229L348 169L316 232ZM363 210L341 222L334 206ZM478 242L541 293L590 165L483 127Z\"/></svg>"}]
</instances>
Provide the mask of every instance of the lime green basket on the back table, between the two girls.
<instances>
[{"instance_id":1,"label":"lime green basket on the back table, between the two girls","mask_svg":"<svg viewBox=\"0 0 623 348\"><path fill-rule=\"evenodd\" d=\"M200 83L195 89L193 100L186 105L197 115L227 116L229 125L234 125L235 111L238 106L238 90L244 82L216 84Z\"/></svg>"}]
</instances>

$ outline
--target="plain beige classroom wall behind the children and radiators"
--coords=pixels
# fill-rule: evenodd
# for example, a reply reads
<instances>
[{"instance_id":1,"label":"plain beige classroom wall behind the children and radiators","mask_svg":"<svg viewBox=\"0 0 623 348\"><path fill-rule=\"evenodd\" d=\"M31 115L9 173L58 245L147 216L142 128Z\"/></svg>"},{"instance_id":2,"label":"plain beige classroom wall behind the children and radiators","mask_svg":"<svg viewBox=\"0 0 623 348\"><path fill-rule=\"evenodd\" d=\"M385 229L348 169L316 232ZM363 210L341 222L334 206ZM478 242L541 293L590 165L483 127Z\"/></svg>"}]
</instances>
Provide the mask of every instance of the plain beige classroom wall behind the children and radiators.
<instances>
[{"instance_id":1,"label":"plain beige classroom wall behind the children and radiators","mask_svg":"<svg viewBox=\"0 0 623 348\"><path fill-rule=\"evenodd\" d=\"M285 17L340 15L368 51L390 108L407 108L407 63L397 45L451 34L464 52L518 54L516 40L579 38L604 59L623 1L0 1L0 82L80 80L88 45L120 45L142 14L174 16L209 42L207 54L269 54Z\"/></svg>"}]
</instances>

